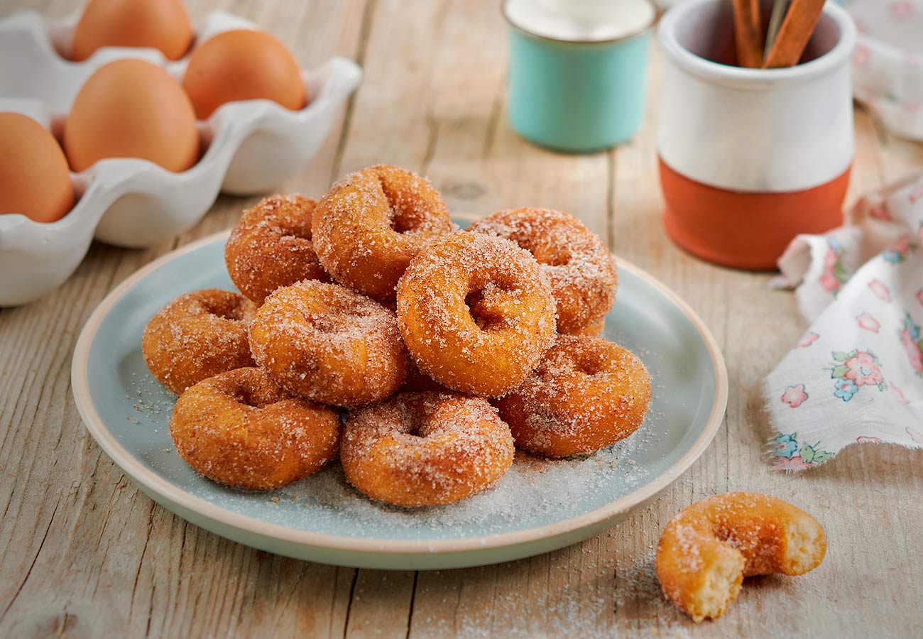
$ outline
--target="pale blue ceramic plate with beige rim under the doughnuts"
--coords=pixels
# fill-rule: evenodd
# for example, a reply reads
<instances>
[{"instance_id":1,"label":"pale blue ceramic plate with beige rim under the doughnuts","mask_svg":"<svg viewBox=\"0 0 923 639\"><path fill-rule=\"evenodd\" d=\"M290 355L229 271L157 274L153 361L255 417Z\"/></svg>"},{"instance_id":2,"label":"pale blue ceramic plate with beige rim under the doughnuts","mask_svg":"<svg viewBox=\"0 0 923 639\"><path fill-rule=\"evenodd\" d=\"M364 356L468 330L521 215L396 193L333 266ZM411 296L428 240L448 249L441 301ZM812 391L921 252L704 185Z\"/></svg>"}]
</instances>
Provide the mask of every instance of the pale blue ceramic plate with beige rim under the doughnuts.
<instances>
[{"instance_id":1,"label":"pale blue ceramic plate with beige rim under the doughnuts","mask_svg":"<svg viewBox=\"0 0 923 639\"><path fill-rule=\"evenodd\" d=\"M71 377L80 415L102 449L163 507L218 535L310 561L389 569L473 566L528 557L592 537L666 488L721 425L725 363L695 313L619 260L605 337L641 356L653 404L639 431L592 455L517 454L495 488L417 511L366 500L337 463L272 492L242 492L194 473L175 452L175 401L141 356L141 333L175 295L233 289L227 233L150 263L100 304L80 333Z\"/></svg>"}]
</instances>

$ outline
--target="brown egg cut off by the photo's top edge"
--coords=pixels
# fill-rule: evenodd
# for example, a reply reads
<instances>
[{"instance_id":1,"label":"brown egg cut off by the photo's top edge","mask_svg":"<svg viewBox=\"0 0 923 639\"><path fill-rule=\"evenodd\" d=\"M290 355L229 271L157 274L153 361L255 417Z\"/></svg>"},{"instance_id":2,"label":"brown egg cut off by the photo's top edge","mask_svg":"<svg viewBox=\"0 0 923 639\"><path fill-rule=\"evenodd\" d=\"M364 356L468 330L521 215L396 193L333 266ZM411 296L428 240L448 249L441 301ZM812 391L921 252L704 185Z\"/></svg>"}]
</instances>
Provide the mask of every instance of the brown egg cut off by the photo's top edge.
<instances>
[{"instance_id":1,"label":"brown egg cut off by the photo's top edge","mask_svg":"<svg viewBox=\"0 0 923 639\"><path fill-rule=\"evenodd\" d=\"M192 38L181 0L90 0L74 30L70 56L85 60L102 46L146 46L176 60Z\"/></svg>"}]
</instances>

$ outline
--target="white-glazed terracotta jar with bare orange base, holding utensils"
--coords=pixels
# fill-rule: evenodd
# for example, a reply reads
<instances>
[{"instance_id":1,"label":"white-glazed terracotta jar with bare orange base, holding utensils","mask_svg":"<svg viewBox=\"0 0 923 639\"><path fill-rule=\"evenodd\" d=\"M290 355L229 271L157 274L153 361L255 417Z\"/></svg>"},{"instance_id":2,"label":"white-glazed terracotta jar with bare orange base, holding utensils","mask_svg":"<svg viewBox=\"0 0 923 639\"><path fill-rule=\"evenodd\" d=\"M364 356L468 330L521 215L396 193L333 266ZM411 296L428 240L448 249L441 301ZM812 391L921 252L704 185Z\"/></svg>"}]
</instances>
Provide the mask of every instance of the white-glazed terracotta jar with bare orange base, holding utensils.
<instances>
[{"instance_id":1,"label":"white-glazed terracotta jar with bare orange base, holding utensils","mask_svg":"<svg viewBox=\"0 0 923 639\"><path fill-rule=\"evenodd\" d=\"M701 259L773 270L796 235L843 221L856 27L826 3L800 64L753 69L736 66L733 22L725 0L687 0L661 19L664 223Z\"/></svg>"}]
</instances>

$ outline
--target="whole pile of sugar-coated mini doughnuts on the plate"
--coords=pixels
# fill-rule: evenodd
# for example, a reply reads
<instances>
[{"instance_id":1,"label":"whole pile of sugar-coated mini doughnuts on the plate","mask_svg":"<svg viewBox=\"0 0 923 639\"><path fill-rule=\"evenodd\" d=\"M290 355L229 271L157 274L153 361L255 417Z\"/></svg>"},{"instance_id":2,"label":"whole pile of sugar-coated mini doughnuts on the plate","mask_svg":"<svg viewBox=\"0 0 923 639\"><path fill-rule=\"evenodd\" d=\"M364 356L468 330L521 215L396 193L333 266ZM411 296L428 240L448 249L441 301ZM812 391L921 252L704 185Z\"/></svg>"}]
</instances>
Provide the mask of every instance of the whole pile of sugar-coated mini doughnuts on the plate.
<instances>
[{"instance_id":1,"label":"whole pile of sugar-coated mini doughnuts on the plate","mask_svg":"<svg viewBox=\"0 0 923 639\"><path fill-rule=\"evenodd\" d=\"M270 489L338 455L404 507L493 486L515 449L567 457L635 432L641 360L605 341L616 264L568 213L500 211L460 231L426 179L347 175L319 201L273 196L225 247L241 293L181 295L144 333L198 473Z\"/></svg>"}]
</instances>

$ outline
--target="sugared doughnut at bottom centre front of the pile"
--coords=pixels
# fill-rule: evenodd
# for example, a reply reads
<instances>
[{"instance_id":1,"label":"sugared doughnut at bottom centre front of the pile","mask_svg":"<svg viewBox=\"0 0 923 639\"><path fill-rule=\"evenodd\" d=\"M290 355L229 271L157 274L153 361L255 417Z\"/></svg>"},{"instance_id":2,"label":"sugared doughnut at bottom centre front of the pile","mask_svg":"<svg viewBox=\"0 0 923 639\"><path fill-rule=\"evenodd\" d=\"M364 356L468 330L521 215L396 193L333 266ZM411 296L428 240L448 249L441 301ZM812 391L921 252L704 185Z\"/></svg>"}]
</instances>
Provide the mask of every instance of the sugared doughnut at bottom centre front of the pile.
<instances>
[{"instance_id":1,"label":"sugared doughnut at bottom centre front of the pile","mask_svg":"<svg viewBox=\"0 0 923 639\"><path fill-rule=\"evenodd\" d=\"M402 392L346 419L346 479L397 506L459 501L490 487L512 464L509 428L486 400Z\"/></svg>"}]
</instances>

